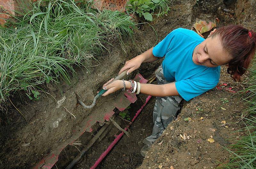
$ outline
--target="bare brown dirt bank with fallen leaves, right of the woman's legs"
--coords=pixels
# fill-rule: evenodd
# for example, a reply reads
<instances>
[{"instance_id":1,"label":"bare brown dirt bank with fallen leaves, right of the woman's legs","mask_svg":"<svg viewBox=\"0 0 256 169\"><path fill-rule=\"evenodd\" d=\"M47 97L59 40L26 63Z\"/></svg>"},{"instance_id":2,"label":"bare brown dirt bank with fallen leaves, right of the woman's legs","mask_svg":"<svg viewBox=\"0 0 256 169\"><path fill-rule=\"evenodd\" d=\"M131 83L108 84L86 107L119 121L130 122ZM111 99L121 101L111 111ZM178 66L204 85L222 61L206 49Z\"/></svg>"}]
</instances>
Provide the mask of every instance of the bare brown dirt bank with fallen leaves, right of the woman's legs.
<instances>
[{"instance_id":1,"label":"bare brown dirt bank with fallen leaves, right of the woman's legs","mask_svg":"<svg viewBox=\"0 0 256 169\"><path fill-rule=\"evenodd\" d=\"M228 161L229 153L222 146L232 144L231 138L239 134L232 132L240 129L236 122L245 106L233 96L242 87L223 78L225 67L221 75L222 86L184 104L140 168L215 168Z\"/></svg>"}]
</instances>

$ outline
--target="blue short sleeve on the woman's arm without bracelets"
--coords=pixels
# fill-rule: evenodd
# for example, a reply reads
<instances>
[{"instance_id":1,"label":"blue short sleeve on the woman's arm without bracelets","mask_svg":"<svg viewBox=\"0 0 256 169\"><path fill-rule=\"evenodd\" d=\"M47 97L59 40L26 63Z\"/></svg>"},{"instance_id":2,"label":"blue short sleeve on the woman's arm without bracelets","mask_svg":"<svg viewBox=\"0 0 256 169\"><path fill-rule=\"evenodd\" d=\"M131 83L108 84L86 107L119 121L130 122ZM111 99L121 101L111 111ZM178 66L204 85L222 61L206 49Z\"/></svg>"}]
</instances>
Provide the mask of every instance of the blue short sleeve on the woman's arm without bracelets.
<instances>
[{"instance_id":1,"label":"blue short sleeve on the woman's arm without bracelets","mask_svg":"<svg viewBox=\"0 0 256 169\"><path fill-rule=\"evenodd\" d=\"M156 57L164 57L170 48L171 41L174 37L175 30L169 33L161 42L153 47L153 55Z\"/></svg>"}]
</instances>

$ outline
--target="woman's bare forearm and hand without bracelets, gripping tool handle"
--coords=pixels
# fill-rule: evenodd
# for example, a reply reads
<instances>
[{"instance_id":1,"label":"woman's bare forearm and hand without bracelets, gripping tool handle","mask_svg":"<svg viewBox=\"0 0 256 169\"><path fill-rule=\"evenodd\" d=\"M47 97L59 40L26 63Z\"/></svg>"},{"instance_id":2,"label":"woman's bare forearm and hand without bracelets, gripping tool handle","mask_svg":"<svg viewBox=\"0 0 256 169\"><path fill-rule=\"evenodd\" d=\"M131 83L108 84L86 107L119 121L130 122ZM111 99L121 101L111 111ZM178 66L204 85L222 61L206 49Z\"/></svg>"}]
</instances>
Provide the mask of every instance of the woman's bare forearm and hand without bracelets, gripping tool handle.
<instances>
[{"instance_id":1,"label":"woman's bare forearm and hand without bracelets, gripping tool handle","mask_svg":"<svg viewBox=\"0 0 256 169\"><path fill-rule=\"evenodd\" d=\"M135 58L125 62L124 67L119 71L118 74L122 73L124 70L129 69L127 74L130 74L132 71L138 69L143 62L153 62L158 60L158 57L153 55L153 47L148 49L146 52L136 56Z\"/></svg>"}]
</instances>

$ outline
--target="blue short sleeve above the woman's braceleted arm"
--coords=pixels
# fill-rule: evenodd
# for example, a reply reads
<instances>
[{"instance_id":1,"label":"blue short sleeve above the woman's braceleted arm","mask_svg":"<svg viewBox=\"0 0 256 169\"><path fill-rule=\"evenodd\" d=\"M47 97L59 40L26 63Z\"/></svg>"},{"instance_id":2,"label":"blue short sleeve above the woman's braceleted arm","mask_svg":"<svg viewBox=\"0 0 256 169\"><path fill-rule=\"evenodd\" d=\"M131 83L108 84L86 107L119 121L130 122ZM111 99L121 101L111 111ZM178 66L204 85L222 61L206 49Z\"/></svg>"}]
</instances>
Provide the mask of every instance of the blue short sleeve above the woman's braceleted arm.
<instances>
[{"instance_id":1,"label":"blue short sleeve above the woman's braceleted arm","mask_svg":"<svg viewBox=\"0 0 256 169\"><path fill-rule=\"evenodd\" d=\"M201 95L207 92L208 90L211 90L217 84L218 84L218 81L209 83L206 81L194 80L194 79L193 80L186 79L186 80L175 82L175 86L178 93L186 101L189 101L190 99L198 95Z\"/></svg>"}]
</instances>

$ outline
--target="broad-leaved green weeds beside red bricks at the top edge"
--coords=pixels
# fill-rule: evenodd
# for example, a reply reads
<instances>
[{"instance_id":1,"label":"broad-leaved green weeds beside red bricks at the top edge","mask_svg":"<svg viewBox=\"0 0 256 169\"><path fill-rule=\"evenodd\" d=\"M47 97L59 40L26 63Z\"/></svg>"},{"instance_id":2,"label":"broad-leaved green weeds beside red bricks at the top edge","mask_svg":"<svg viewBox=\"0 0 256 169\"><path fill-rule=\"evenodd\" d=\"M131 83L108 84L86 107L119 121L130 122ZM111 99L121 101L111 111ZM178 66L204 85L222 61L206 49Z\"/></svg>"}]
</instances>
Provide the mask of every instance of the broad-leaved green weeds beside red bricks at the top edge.
<instances>
[{"instance_id":1,"label":"broad-leaved green weeds beside red bricks at the top edge","mask_svg":"<svg viewBox=\"0 0 256 169\"><path fill-rule=\"evenodd\" d=\"M136 13L141 18L142 16L152 21L152 15L155 11L159 11L156 15L163 15L169 11L170 0L130 0L127 2L126 11L128 13Z\"/></svg>"}]
</instances>

